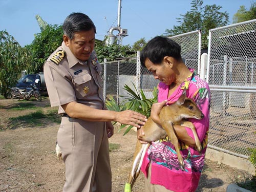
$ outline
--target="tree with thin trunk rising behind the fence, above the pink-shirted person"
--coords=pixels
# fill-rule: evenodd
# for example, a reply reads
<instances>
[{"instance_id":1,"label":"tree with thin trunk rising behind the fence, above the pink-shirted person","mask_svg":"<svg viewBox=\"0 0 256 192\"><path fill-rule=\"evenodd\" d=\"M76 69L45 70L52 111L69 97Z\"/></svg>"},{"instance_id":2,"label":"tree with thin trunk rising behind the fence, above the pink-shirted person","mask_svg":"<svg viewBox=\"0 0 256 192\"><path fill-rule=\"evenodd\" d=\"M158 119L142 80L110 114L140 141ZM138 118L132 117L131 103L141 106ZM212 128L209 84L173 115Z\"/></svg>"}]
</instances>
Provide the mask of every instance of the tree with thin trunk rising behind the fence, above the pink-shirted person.
<instances>
[{"instance_id":1,"label":"tree with thin trunk rising behind the fence, above the pink-shirted person","mask_svg":"<svg viewBox=\"0 0 256 192\"><path fill-rule=\"evenodd\" d=\"M187 11L180 18L177 18L179 26L173 29L166 29L165 36L175 36L190 31L201 29L202 31L202 48L208 47L207 35L209 29L222 27L228 24L228 13L220 12L221 6L206 5L203 7L202 0L193 0L191 10Z\"/></svg>"}]
</instances>

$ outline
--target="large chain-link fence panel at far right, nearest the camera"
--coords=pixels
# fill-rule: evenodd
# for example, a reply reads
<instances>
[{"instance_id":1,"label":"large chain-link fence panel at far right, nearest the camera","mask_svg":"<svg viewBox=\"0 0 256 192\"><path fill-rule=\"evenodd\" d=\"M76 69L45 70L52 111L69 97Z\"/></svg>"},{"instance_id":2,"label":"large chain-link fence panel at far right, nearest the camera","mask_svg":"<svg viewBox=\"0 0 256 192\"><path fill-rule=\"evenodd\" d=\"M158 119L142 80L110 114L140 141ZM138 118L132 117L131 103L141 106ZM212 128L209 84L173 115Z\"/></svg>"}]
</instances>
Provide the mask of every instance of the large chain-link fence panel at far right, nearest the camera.
<instances>
[{"instance_id":1,"label":"large chain-link fence panel at far right, nearest the camera","mask_svg":"<svg viewBox=\"0 0 256 192\"><path fill-rule=\"evenodd\" d=\"M209 146L247 158L256 147L256 19L209 31Z\"/></svg>"}]
</instances>

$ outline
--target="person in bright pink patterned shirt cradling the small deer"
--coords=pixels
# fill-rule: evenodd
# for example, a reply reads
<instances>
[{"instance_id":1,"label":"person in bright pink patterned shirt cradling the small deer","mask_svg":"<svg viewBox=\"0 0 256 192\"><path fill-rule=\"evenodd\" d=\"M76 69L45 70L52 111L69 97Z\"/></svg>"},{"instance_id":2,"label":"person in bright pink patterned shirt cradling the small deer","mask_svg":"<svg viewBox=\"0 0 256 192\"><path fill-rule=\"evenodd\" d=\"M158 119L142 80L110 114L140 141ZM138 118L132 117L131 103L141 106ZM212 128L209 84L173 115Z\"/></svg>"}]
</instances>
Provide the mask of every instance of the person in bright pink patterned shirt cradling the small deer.
<instances>
[{"instance_id":1,"label":"person in bright pink patterned shirt cradling the small deer","mask_svg":"<svg viewBox=\"0 0 256 192\"><path fill-rule=\"evenodd\" d=\"M175 147L167 139L152 142L143 159L141 171L145 175L145 191L190 192L197 189L204 165L209 129L210 91L206 81L188 69L181 58L181 48L172 39L157 36L150 40L141 52L140 61L151 71L158 84L158 103L153 104L151 117L161 124L159 113L165 104L177 101L186 89L186 97L193 99L204 114L201 120L188 119L196 127L202 151L196 150L192 131L175 125L185 170L179 166ZM143 127L138 130L138 139Z\"/></svg>"}]
</instances>

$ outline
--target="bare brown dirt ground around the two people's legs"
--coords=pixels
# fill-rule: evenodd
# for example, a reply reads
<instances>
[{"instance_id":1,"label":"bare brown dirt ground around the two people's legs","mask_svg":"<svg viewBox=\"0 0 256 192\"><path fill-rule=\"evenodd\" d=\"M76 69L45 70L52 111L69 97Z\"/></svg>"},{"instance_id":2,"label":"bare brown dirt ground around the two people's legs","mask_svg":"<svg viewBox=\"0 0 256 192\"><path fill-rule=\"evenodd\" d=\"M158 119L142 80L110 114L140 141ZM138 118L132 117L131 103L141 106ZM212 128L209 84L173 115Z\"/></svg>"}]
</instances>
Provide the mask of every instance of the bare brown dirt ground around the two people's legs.
<instances>
[{"instance_id":1,"label":"bare brown dirt ground around the two people's legs","mask_svg":"<svg viewBox=\"0 0 256 192\"><path fill-rule=\"evenodd\" d=\"M0 129L8 126L9 117L31 113L32 110L8 110L18 102L20 101L0 100ZM47 98L41 102L29 102L45 106L44 110L50 109ZM65 166L55 154L57 131L58 124L45 122L39 127L24 127L20 124L16 129L0 132L0 191L61 191L65 183ZM114 136L110 138L110 143L120 144L118 150L110 152L113 192L124 189L136 143L135 132L131 131L125 136L122 134L116 127ZM234 177L243 174L242 170L206 160L197 192L225 191ZM144 191L142 174L133 191Z\"/></svg>"}]
</instances>

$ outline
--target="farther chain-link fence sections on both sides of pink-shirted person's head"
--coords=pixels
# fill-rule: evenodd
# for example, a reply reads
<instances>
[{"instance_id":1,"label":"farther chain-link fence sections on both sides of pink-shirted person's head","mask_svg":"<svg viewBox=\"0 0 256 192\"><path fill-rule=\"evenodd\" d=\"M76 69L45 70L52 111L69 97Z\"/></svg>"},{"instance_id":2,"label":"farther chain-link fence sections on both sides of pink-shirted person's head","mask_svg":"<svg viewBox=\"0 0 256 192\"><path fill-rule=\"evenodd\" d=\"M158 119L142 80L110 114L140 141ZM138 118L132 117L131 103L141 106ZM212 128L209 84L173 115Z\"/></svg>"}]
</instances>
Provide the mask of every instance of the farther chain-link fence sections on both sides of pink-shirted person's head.
<instances>
[{"instance_id":1,"label":"farther chain-link fence sections on both sides of pink-shirted person's head","mask_svg":"<svg viewBox=\"0 0 256 192\"><path fill-rule=\"evenodd\" d=\"M181 57L189 68L200 71L201 54L201 31L193 31L170 37L181 46ZM123 89L126 84L133 90L142 90L147 98L153 97L154 87L159 80L154 79L151 72L140 64L140 53L137 58L126 58L123 60L101 63L103 68L104 98L112 95L117 103L125 99L127 93Z\"/></svg>"}]
</instances>

